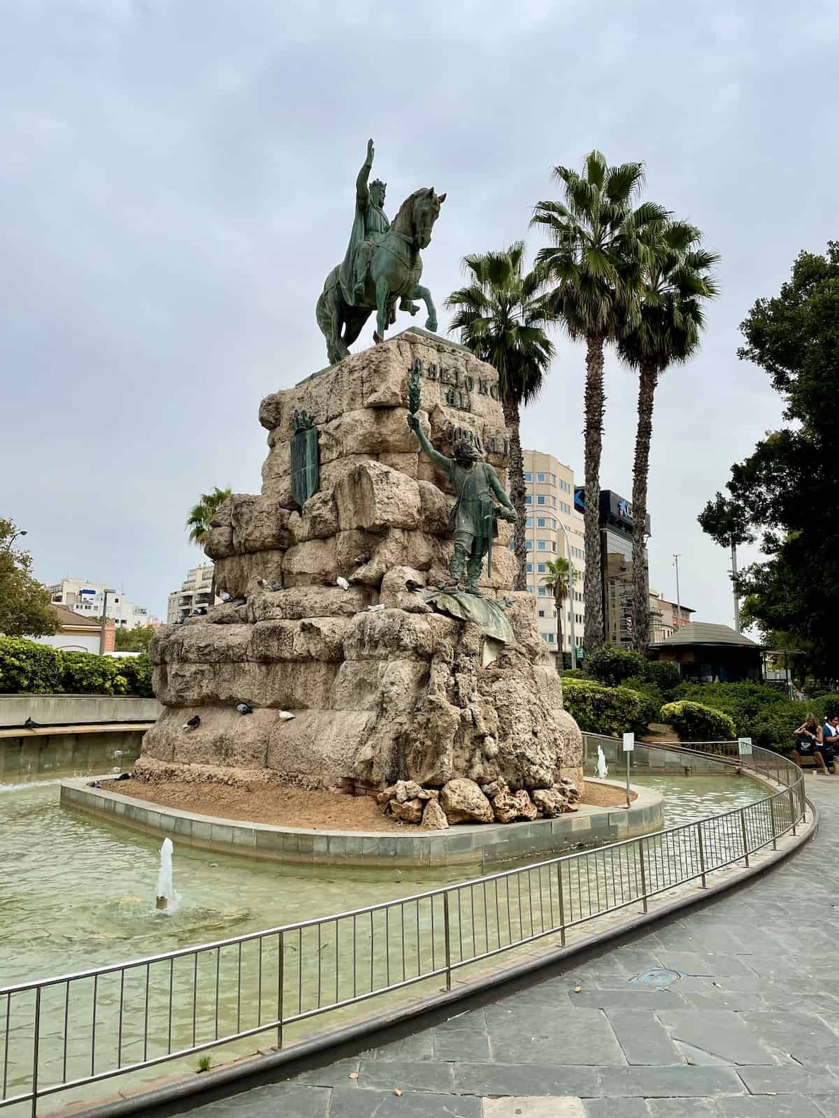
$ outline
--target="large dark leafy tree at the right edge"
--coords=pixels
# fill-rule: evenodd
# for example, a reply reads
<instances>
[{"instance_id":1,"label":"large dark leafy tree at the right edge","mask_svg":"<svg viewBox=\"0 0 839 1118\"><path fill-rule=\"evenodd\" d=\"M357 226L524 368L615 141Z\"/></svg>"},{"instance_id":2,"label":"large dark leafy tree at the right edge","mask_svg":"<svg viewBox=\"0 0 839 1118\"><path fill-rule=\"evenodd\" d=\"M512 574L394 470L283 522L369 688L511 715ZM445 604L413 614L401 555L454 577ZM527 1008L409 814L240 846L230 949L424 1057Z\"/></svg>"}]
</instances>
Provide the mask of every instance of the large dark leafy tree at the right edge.
<instances>
[{"instance_id":1,"label":"large dark leafy tree at the right edge","mask_svg":"<svg viewBox=\"0 0 839 1118\"><path fill-rule=\"evenodd\" d=\"M758 299L741 330L738 356L761 366L782 395L788 426L732 466L730 501L760 533L766 559L736 586L750 619L811 651L822 680L839 678L839 508L836 401L839 399L839 243L823 256L802 252L773 299ZM827 530L827 534L826 534Z\"/></svg>"}]
</instances>

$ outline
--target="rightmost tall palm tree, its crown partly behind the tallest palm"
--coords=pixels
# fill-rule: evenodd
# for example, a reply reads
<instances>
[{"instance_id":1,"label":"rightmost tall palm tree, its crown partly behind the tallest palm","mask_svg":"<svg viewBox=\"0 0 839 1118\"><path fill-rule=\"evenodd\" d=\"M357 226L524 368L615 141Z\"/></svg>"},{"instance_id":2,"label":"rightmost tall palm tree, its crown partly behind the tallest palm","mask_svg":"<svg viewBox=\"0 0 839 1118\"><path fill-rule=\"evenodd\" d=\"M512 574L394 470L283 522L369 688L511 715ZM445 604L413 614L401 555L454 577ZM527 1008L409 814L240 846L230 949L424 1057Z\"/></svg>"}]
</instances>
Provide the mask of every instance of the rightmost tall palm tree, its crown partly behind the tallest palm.
<instances>
[{"instance_id":1,"label":"rightmost tall palm tree, its crown partly behind the tallest palm","mask_svg":"<svg viewBox=\"0 0 839 1118\"><path fill-rule=\"evenodd\" d=\"M664 370L687 361L699 348L705 324L703 304L717 286L709 275L719 259L700 245L701 233L687 221L666 221L657 231L657 250L642 276L637 318L619 338L618 352L638 370L638 430L632 474L632 644L647 654L650 598L647 579L647 482L656 386Z\"/></svg>"}]
</instances>

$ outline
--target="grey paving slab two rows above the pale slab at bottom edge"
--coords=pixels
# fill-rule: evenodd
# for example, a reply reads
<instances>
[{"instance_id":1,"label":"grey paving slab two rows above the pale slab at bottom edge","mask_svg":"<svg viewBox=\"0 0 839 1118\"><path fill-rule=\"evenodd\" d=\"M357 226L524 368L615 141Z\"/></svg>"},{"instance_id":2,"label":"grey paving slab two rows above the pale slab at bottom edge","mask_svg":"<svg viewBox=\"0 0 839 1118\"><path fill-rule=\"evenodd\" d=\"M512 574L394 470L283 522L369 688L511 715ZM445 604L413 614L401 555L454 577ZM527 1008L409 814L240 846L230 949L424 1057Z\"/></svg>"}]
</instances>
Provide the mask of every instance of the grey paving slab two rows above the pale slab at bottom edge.
<instances>
[{"instance_id":1,"label":"grey paving slab two rows above the pale slab at bottom edge","mask_svg":"<svg viewBox=\"0 0 839 1118\"><path fill-rule=\"evenodd\" d=\"M605 1014L575 1008L571 1013L510 1013L508 1020L487 1013L492 1059L499 1063L625 1064Z\"/></svg>"}]
</instances>

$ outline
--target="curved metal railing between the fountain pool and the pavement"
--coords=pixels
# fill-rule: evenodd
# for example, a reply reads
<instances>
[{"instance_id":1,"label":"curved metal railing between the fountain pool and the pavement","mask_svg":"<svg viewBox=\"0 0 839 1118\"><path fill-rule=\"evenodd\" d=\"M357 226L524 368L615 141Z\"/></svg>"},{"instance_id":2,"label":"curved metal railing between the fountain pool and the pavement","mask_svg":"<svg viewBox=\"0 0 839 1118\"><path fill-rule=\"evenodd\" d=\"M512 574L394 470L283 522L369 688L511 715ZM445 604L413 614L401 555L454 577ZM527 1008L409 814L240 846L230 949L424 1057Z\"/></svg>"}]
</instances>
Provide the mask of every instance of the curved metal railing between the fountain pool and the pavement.
<instances>
[{"instance_id":1,"label":"curved metal railing between the fountain pool and the pavement","mask_svg":"<svg viewBox=\"0 0 839 1118\"><path fill-rule=\"evenodd\" d=\"M585 736L590 741L598 736ZM603 739L614 743L615 739ZM736 742L707 746L729 765ZM661 748L648 746L647 748ZM679 746L666 748L678 749ZM775 790L656 834L552 858L336 916L0 988L0 1110L271 1036L568 934L750 856L804 816L803 774L755 747L738 764ZM431 994L432 991L427 991ZM253 1051L253 1048L251 1049ZM242 1054L242 1053L241 1053Z\"/></svg>"}]
</instances>

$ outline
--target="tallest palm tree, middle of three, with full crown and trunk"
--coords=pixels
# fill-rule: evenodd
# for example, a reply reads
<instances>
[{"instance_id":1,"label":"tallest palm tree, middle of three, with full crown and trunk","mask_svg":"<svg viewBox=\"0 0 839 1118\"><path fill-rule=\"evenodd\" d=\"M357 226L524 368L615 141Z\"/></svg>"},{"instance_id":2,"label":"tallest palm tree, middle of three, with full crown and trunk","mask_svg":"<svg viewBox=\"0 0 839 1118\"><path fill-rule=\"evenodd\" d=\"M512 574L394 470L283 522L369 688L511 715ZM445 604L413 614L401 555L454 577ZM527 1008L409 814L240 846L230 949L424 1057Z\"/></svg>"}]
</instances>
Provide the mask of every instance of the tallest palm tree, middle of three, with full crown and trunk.
<instances>
[{"instance_id":1,"label":"tallest palm tree, middle of three, with full crown and trunk","mask_svg":"<svg viewBox=\"0 0 839 1118\"><path fill-rule=\"evenodd\" d=\"M552 244L536 257L556 286L549 306L573 339L586 343L585 378L585 636L586 654L603 644L598 527L603 449L603 348L637 314L640 278L652 252L648 230L667 217L654 202L633 203L643 184L642 163L609 167L598 151L582 174L555 167L562 202L539 202L531 225L545 226Z\"/></svg>"}]
</instances>

